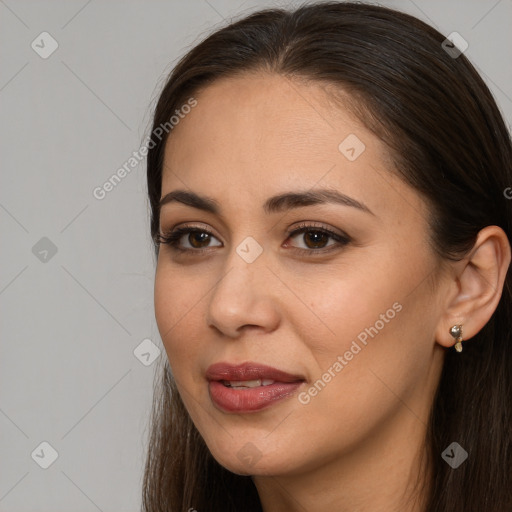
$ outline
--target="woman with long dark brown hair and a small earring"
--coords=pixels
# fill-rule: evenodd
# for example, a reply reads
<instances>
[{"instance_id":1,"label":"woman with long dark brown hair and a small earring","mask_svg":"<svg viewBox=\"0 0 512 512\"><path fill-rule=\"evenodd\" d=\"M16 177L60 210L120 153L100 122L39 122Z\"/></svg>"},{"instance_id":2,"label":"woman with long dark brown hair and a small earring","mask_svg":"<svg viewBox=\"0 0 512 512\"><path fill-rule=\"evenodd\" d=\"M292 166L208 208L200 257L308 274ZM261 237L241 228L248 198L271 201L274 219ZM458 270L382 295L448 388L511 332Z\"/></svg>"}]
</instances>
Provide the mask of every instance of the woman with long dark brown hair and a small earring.
<instances>
[{"instance_id":1,"label":"woman with long dark brown hair and a small earring","mask_svg":"<svg viewBox=\"0 0 512 512\"><path fill-rule=\"evenodd\" d=\"M330 2L175 67L144 510L512 510L512 145L456 49Z\"/></svg>"}]
</instances>

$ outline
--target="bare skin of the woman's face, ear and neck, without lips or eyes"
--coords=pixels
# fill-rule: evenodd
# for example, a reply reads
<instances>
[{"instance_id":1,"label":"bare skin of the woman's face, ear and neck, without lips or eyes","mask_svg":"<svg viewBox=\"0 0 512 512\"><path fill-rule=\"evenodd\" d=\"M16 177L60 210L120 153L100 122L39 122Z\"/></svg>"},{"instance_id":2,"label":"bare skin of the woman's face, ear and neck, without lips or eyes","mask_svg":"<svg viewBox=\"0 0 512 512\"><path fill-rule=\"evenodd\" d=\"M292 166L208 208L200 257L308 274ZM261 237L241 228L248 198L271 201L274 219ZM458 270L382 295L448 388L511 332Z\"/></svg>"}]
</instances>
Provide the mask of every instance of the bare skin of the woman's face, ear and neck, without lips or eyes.
<instances>
[{"instance_id":1,"label":"bare skin of the woman's face, ear and neck, without lips or eyes","mask_svg":"<svg viewBox=\"0 0 512 512\"><path fill-rule=\"evenodd\" d=\"M187 223L213 237L202 255L161 245L155 279L158 328L194 424L220 464L253 476L265 512L422 510L414 484L430 474L421 455L455 343L449 329L462 323L468 340L494 312L510 263L505 233L489 226L467 258L441 262L423 199L391 174L380 140L318 84L253 73L195 97L166 145L162 197L193 191L215 199L221 215L163 206L162 230ZM349 134L366 146L354 161L338 149ZM329 203L263 211L270 196L319 188L373 215ZM287 235L301 221L352 240L314 256L305 233ZM248 236L263 249L252 263L236 252ZM307 391L394 303L401 310L306 405L294 395L229 414L211 401L205 372L220 361L302 374ZM239 457L247 443L256 462Z\"/></svg>"}]
</instances>

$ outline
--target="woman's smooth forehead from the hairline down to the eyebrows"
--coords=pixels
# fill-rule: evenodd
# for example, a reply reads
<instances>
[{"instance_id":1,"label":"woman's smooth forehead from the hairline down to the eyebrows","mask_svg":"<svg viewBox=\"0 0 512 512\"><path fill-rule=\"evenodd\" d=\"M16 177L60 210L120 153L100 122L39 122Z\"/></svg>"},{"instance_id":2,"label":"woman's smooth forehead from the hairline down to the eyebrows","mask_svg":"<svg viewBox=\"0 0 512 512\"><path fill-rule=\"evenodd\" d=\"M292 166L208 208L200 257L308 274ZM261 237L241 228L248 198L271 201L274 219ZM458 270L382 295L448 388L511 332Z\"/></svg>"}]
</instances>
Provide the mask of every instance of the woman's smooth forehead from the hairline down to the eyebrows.
<instances>
[{"instance_id":1,"label":"woman's smooth forehead from the hairline down to the eyebrows","mask_svg":"<svg viewBox=\"0 0 512 512\"><path fill-rule=\"evenodd\" d=\"M168 138L162 196L189 188L261 205L322 185L364 198L376 213L421 208L415 191L389 172L384 144L322 84L254 73L218 80L195 98Z\"/></svg>"}]
</instances>

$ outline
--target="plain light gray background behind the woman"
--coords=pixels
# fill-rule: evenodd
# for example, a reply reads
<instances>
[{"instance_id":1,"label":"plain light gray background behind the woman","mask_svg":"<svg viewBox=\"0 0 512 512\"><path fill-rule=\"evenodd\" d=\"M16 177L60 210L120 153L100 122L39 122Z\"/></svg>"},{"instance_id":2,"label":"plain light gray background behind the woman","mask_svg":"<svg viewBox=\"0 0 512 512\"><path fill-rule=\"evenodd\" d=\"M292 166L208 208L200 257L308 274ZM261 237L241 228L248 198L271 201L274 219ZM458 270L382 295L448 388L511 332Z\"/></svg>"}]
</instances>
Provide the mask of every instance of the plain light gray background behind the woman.
<instances>
[{"instance_id":1,"label":"plain light gray background behind the woman","mask_svg":"<svg viewBox=\"0 0 512 512\"><path fill-rule=\"evenodd\" d=\"M459 32L510 126L512 0L381 3ZM187 48L232 16L291 4L0 0L0 511L140 509L159 360L133 351L150 339L165 357L145 162L104 199L92 192L140 148ZM45 31L59 46L43 59L31 43L47 50ZM58 452L47 469L43 441Z\"/></svg>"}]
</instances>

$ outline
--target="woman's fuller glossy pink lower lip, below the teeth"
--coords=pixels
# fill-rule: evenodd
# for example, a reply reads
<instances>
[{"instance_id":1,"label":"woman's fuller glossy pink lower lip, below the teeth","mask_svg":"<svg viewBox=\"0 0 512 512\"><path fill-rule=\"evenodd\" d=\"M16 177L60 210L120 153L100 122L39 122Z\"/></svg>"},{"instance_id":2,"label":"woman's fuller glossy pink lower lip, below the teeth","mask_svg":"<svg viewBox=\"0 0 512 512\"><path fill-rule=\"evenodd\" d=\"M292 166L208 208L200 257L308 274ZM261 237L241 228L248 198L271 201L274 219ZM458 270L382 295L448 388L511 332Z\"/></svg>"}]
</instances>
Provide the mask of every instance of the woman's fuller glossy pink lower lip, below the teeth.
<instances>
[{"instance_id":1,"label":"woman's fuller glossy pink lower lip, below the teeth","mask_svg":"<svg viewBox=\"0 0 512 512\"><path fill-rule=\"evenodd\" d=\"M268 386L234 389L212 380L210 397L221 409L228 412L252 412L269 407L293 395L302 382L275 382Z\"/></svg>"}]
</instances>

